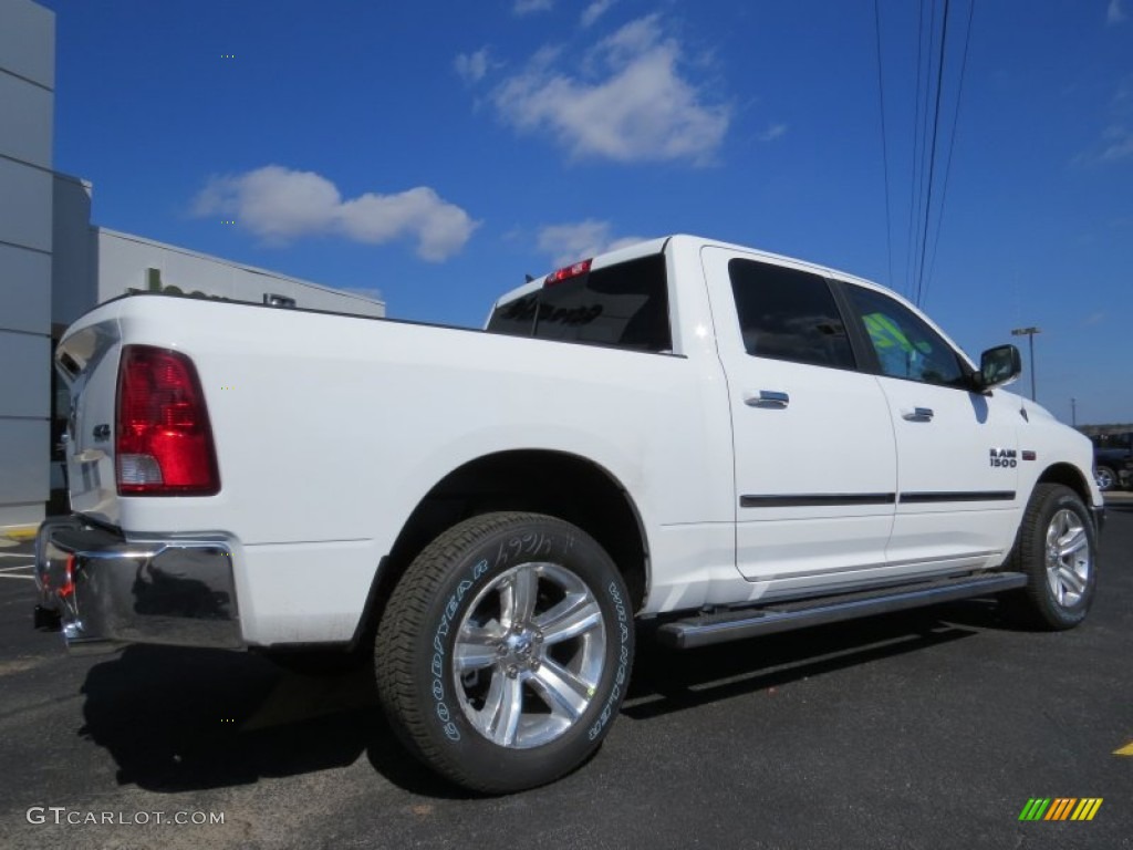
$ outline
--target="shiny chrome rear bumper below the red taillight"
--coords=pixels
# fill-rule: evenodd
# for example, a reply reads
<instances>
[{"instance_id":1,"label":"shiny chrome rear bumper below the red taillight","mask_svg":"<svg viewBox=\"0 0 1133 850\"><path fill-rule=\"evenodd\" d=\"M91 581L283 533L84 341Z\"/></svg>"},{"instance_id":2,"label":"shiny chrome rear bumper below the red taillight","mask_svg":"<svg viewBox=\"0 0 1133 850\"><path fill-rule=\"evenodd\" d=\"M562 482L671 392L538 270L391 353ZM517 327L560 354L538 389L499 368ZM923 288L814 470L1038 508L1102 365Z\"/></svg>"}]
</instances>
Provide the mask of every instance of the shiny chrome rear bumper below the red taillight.
<instances>
[{"instance_id":1,"label":"shiny chrome rear bumper below the red taillight","mask_svg":"<svg viewBox=\"0 0 1133 850\"><path fill-rule=\"evenodd\" d=\"M232 547L221 536L133 541L77 517L51 519L35 538L35 584L71 649L244 646Z\"/></svg>"}]
</instances>

